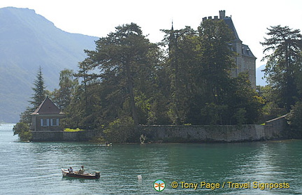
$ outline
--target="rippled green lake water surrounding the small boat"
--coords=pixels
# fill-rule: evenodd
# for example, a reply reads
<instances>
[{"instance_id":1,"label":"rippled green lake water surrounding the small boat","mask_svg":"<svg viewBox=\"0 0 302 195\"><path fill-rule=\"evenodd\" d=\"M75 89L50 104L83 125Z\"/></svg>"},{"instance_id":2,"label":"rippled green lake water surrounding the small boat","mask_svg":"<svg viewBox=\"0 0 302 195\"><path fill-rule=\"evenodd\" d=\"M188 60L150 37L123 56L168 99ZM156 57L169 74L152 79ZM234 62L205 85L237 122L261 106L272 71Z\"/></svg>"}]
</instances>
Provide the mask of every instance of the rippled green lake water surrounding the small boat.
<instances>
[{"instance_id":1,"label":"rippled green lake water surrounding the small boat","mask_svg":"<svg viewBox=\"0 0 302 195\"><path fill-rule=\"evenodd\" d=\"M0 194L302 194L301 140L106 147L22 143L12 129L13 124L0 125ZM101 178L62 177L61 168L82 165L87 172L100 171ZM155 180L165 182L164 191L154 189ZM204 182L213 184L201 188Z\"/></svg>"}]
</instances>

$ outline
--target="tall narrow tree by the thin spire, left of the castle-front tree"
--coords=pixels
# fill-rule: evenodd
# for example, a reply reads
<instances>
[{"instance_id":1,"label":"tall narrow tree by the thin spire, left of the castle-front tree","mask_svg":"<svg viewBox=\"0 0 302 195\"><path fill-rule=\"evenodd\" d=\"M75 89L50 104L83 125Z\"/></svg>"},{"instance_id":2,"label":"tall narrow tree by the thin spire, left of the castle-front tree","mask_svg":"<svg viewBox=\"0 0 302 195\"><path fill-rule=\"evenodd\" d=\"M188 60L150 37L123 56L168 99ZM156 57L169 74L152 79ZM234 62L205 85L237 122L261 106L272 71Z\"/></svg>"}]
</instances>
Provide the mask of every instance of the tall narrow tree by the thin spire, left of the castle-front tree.
<instances>
[{"instance_id":1,"label":"tall narrow tree by the thin spire, left of the castle-front tree","mask_svg":"<svg viewBox=\"0 0 302 195\"><path fill-rule=\"evenodd\" d=\"M184 124L188 118L189 103L194 92L196 73L198 73L196 31L185 29L162 30L166 33L163 40L168 45L166 72L170 79L170 102L168 115L173 124Z\"/></svg>"}]
</instances>

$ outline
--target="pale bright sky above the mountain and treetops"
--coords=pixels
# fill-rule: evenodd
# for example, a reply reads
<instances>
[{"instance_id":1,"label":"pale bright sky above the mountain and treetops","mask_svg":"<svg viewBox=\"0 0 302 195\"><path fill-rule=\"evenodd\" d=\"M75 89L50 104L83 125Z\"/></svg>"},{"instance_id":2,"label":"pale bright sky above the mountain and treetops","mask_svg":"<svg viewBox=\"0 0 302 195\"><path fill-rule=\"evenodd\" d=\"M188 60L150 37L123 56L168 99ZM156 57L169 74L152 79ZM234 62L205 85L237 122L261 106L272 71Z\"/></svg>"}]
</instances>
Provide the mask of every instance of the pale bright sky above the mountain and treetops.
<instances>
[{"instance_id":1,"label":"pale bright sky above the mountain and treetops","mask_svg":"<svg viewBox=\"0 0 302 195\"><path fill-rule=\"evenodd\" d=\"M197 29L203 17L231 16L243 44L257 57L256 66L265 62L260 42L267 28L281 25L302 30L301 0L0 0L0 8L34 9L56 27L70 33L104 37L115 27L134 22L152 43L161 41L160 29Z\"/></svg>"}]
</instances>

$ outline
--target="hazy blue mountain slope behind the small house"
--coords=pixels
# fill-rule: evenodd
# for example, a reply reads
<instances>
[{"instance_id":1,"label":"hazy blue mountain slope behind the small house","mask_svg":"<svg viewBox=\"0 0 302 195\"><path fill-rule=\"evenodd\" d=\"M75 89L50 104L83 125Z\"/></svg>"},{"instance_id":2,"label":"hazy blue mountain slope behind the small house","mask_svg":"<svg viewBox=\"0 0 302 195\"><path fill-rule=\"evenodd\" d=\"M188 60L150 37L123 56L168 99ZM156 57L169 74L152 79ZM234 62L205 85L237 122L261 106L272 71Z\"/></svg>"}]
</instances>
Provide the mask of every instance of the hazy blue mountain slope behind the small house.
<instances>
[{"instance_id":1,"label":"hazy blue mountain slope behind the small house","mask_svg":"<svg viewBox=\"0 0 302 195\"><path fill-rule=\"evenodd\" d=\"M0 8L0 122L17 122L29 106L39 66L52 91L59 72L77 70L97 39L62 31L28 8Z\"/></svg>"}]
</instances>

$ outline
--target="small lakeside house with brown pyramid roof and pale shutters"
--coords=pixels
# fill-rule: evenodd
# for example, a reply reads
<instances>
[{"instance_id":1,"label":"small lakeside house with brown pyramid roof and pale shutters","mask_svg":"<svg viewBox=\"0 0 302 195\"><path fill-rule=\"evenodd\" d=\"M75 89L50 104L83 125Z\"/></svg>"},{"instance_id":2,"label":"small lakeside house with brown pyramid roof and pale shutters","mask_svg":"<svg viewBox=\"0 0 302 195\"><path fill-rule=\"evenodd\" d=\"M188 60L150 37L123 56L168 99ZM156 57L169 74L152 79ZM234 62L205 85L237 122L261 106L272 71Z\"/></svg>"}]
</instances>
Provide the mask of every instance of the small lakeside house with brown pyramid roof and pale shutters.
<instances>
[{"instance_id":1,"label":"small lakeside house with brown pyramid roof and pale shutters","mask_svg":"<svg viewBox=\"0 0 302 195\"><path fill-rule=\"evenodd\" d=\"M31 113L31 117L31 131L63 131L60 120L64 117L64 113L48 96L34 113Z\"/></svg>"}]
</instances>

